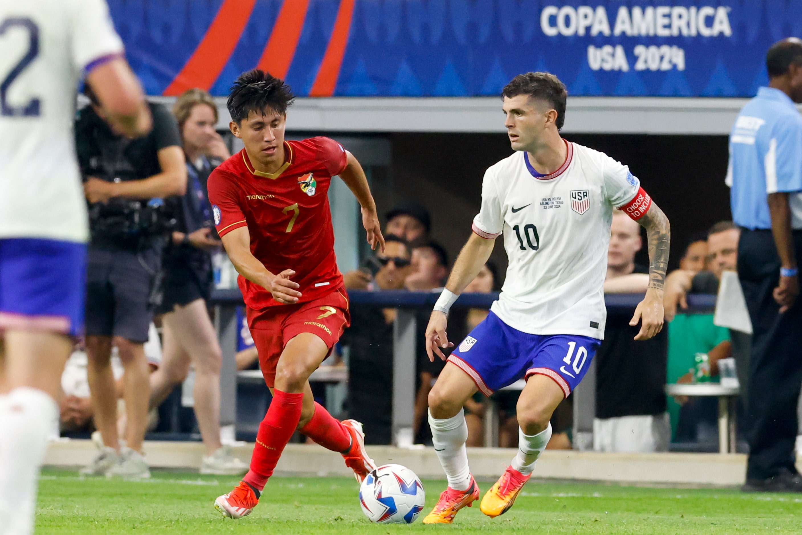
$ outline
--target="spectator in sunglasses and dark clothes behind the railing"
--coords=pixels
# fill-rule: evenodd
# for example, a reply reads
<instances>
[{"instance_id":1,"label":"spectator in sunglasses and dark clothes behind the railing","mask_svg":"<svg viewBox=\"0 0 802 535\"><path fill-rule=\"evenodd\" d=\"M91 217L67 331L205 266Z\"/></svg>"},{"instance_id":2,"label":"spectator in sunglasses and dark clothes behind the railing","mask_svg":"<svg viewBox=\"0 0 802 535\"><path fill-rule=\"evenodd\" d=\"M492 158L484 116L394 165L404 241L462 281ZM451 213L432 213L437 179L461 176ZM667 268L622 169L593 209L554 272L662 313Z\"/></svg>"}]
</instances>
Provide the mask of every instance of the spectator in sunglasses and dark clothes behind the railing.
<instances>
[{"instance_id":1,"label":"spectator in sunglasses and dark clothes behind the railing","mask_svg":"<svg viewBox=\"0 0 802 535\"><path fill-rule=\"evenodd\" d=\"M376 255L382 268L376 273L379 290L402 290L411 274L411 250L402 238L385 238L384 253ZM340 343L350 347L348 392L350 418L362 422L365 444L391 444L393 392L393 322L395 308L354 304L351 326Z\"/></svg>"}]
</instances>

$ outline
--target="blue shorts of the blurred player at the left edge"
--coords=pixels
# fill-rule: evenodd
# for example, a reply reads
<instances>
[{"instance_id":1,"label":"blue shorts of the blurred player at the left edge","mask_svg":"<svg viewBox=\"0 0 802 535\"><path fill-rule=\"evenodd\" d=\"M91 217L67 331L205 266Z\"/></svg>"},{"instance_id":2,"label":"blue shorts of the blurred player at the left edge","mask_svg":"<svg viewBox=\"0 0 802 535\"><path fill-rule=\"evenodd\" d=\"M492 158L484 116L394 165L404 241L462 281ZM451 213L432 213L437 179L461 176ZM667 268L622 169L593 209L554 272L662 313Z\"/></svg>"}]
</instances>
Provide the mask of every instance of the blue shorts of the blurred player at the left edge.
<instances>
[{"instance_id":1,"label":"blue shorts of the blurred player at the left edge","mask_svg":"<svg viewBox=\"0 0 802 535\"><path fill-rule=\"evenodd\" d=\"M83 331L87 245L0 239L0 330Z\"/></svg>"}]
</instances>

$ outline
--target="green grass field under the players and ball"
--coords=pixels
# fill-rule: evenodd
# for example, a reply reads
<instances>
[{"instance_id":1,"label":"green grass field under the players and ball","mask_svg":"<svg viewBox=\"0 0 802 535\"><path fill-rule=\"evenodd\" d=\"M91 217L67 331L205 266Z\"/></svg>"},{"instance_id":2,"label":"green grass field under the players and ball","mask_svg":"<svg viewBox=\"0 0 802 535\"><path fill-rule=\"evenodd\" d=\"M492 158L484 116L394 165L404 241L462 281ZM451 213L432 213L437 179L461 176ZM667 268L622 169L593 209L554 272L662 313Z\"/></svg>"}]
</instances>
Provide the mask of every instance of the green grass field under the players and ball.
<instances>
[{"instance_id":1,"label":"green grass field under the players and ball","mask_svg":"<svg viewBox=\"0 0 802 535\"><path fill-rule=\"evenodd\" d=\"M454 525L420 522L444 481L425 480L426 504L414 525L372 525L358 487L345 478L270 480L261 503L231 521L213 509L237 480L188 472L154 472L144 482L81 479L46 470L39 486L36 533L800 533L802 496L742 494L734 488L646 488L530 482L515 507L492 520L478 506ZM480 483L484 492L490 483ZM456 531L455 531L456 530Z\"/></svg>"}]
</instances>

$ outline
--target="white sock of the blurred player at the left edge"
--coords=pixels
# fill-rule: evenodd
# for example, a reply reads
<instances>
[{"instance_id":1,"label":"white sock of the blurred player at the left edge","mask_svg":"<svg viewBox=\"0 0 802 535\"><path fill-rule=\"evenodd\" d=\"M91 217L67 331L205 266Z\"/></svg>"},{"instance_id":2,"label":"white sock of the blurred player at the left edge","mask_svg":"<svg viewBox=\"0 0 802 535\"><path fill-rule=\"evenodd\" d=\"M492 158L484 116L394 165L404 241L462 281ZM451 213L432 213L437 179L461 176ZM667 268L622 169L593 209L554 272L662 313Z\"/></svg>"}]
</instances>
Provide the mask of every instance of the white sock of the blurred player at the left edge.
<instances>
[{"instance_id":1,"label":"white sock of the blurred player at the left edge","mask_svg":"<svg viewBox=\"0 0 802 535\"><path fill-rule=\"evenodd\" d=\"M33 531L39 468L59 406L36 388L0 398L0 532ZM6 531L3 531L3 530Z\"/></svg>"}]
</instances>

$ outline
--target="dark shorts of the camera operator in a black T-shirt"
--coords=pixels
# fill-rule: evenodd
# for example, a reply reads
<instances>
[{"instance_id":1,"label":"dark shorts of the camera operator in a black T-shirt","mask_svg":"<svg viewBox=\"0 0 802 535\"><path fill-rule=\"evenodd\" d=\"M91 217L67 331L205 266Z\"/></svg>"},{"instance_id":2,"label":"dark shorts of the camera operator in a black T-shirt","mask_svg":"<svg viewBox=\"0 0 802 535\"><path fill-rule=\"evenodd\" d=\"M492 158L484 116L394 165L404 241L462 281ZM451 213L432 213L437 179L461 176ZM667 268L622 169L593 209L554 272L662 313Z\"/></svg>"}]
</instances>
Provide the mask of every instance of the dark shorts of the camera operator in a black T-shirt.
<instances>
[{"instance_id":1,"label":"dark shorts of the camera operator in a black T-shirt","mask_svg":"<svg viewBox=\"0 0 802 535\"><path fill-rule=\"evenodd\" d=\"M87 266L87 335L121 336L148 341L153 319L162 247L148 249L89 248Z\"/></svg>"}]
</instances>

